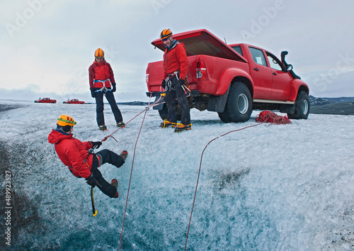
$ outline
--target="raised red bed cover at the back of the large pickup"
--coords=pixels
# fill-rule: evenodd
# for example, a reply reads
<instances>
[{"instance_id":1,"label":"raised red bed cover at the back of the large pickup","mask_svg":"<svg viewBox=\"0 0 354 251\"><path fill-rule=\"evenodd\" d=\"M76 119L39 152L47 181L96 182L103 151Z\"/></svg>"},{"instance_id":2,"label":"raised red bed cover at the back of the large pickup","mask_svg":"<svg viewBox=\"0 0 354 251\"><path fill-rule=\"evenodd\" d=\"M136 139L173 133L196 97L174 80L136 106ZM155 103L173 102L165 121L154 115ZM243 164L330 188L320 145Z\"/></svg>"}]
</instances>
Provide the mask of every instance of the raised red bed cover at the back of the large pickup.
<instances>
[{"instance_id":1,"label":"raised red bed cover at the back of the large pickup","mask_svg":"<svg viewBox=\"0 0 354 251\"><path fill-rule=\"evenodd\" d=\"M205 29L176 33L173 34L173 38L184 44L187 56L210 55L229 60L247 62L246 58L242 57L229 45ZM165 45L161 39L152 41L152 45L162 51L165 50Z\"/></svg>"}]
</instances>

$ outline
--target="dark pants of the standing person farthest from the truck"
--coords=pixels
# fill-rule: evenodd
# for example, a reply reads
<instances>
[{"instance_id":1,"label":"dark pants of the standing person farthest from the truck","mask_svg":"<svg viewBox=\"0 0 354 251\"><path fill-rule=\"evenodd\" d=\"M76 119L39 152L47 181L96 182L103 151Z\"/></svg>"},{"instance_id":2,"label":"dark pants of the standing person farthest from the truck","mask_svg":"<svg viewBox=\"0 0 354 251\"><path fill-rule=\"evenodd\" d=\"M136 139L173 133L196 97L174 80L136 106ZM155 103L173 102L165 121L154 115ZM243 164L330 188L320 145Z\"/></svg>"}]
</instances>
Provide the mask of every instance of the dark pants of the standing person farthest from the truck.
<instances>
[{"instance_id":1,"label":"dark pants of the standing person farthest from the truck","mask_svg":"<svg viewBox=\"0 0 354 251\"><path fill-rule=\"evenodd\" d=\"M105 124L105 118L103 116L103 92L97 91L96 92L96 120L98 125ZM115 122L120 123L123 121L122 113L115 102L115 98L113 95L113 91L106 91L105 92L105 99L107 99L108 103L110 104L110 108L112 109Z\"/></svg>"}]
</instances>

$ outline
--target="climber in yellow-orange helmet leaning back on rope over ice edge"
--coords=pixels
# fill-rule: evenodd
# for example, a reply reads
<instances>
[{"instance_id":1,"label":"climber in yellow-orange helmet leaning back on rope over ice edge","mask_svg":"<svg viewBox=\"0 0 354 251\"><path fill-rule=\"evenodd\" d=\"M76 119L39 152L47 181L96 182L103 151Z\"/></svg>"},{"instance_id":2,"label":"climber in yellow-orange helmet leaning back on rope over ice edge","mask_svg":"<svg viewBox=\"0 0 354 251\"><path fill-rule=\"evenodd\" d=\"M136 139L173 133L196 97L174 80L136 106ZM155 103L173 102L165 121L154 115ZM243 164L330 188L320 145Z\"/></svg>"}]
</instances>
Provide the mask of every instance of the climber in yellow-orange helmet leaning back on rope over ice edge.
<instances>
[{"instance_id":1,"label":"climber in yellow-orange helmet leaning back on rope over ice edge","mask_svg":"<svg viewBox=\"0 0 354 251\"><path fill-rule=\"evenodd\" d=\"M110 150L101 150L93 153L92 147L100 147L101 141L81 142L72 135L76 122L67 115L57 118L57 128L48 135L48 142L55 145L55 151L60 160L69 168L75 177L86 179L91 186L98 186L103 194L110 198L118 197L118 181L112 179L110 183L103 179L98 167L109 163L121 167L127 158L128 152L123 150L120 155Z\"/></svg>"}]
</instances>

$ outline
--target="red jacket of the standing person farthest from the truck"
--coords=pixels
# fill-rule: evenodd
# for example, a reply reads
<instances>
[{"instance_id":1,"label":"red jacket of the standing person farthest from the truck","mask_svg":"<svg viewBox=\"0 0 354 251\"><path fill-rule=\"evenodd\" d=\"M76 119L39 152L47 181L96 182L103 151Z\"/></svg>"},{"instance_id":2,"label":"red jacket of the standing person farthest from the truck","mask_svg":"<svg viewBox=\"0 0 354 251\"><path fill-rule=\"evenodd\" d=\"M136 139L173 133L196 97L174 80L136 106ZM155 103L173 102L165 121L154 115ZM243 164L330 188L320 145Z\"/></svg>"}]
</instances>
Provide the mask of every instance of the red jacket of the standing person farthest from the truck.
<instances>
[{"instance_id":1,"label":"red jacket of the standing person farthest from the truck","mask_svg":"<svg viewBox=\"0 0 354 251\"><path fill-rule=\"evenodd\" d=\"M93 88L102 88L103 82L94 82L95 80L107 80L104 82L105 87L110 87L110 83L115 83L113 69L110 67L108 62L93 62L93 64L89 67L89 83L90 89Z\"/></svg>"}]
</instances>

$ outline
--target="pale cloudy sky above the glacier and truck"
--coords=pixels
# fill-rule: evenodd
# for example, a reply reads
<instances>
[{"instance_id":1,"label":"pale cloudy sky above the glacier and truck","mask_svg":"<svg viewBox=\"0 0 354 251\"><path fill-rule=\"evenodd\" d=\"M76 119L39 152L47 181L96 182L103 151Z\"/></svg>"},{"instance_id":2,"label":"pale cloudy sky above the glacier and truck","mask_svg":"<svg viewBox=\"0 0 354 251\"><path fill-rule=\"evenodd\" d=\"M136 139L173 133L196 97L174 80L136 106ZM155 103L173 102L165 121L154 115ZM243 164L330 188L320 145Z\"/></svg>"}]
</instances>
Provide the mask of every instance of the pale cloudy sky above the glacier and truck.
<instances>
[{"instance_id":1,"label":"pale cloudy sky above the glacier and truck","mask_svg":"<svg viewBox=\"0 0 354 251\"><path fill-rule=\"evenodd\" d=\"M147 63L162 59L150 43L164 28L287 50L310 94L354 96L353 12L352 0L1 0L0 99L93 102L88 68L102 48L116 100L147 101Z\"/></svg>"}]
</instances>

